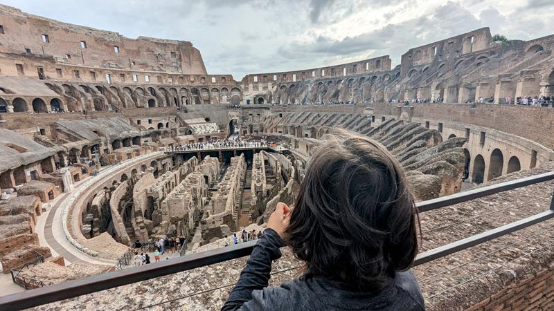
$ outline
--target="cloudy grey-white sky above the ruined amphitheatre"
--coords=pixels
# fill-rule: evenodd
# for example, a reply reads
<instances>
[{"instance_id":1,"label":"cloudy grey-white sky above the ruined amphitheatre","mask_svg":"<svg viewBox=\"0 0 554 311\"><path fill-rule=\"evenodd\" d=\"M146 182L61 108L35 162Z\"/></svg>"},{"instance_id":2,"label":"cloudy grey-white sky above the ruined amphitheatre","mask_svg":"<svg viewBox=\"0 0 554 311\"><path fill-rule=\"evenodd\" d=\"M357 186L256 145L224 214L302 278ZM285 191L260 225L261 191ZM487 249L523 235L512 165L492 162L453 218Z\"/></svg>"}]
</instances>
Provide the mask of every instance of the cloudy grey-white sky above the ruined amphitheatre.
<instances>
[{"instance_id":1,"label":"cloudy grey-white sky above the ruined amphitheatre","mask_svg":"<svg viewBox=\"0 0 554 311\"><path fill-rule=\"evenodd\" d=\"M192 41L208 73L299 70L391 55L490 27L551 35L553 0L3 0L35 15L126 37Z\"/></svg>"}]
</instances>

